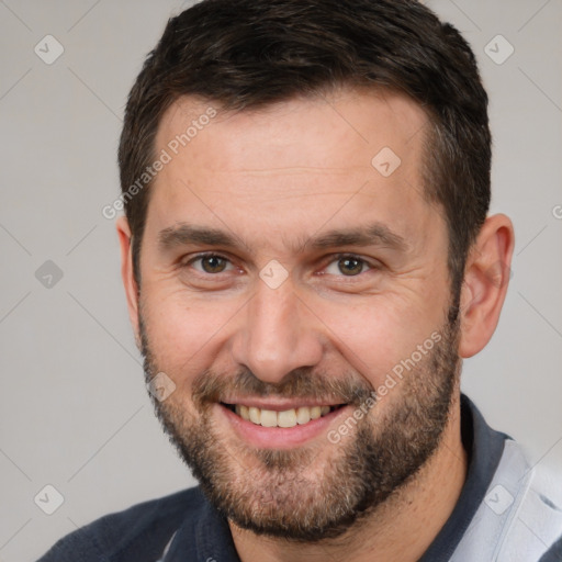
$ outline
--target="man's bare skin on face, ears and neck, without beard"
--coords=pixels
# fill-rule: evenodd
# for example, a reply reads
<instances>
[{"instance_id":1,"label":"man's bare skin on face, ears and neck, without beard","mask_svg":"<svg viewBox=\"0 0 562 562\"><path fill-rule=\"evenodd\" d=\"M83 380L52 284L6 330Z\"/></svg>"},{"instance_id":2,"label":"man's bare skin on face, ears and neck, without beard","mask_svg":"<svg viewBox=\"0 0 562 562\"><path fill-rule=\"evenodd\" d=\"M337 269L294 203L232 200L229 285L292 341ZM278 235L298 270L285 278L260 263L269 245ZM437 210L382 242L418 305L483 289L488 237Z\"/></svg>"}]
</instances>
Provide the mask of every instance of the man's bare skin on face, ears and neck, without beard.
<instances>
[{"instance_id":1,"label":"man's bare skin on face, ears and neck, without beard","mask_svg":"<svg viewBox=\"0 0 562 562\"><path fill-rule=\"evenodd\" d=\"M207 106L188 98L176 102L159 125L156 154ZM175 373L177 389L169 398L173 405L198 415L192 383L205 369L234 373L244 367L271 384L304 367L333 376L353 371L376 389L395 364L443 325L451 299L448 235L441 209L423 196L426 121L424 111L402 95L344 90L259 111L220 112L164 167L150 187L139 297L125 218L117 221L117 233L131 322L138 340L140 308L159 369ZM389 177L371 165L383 147L402 160ZM314 249L310 244L328 231L373 222L402 237L404 247ZM180 223L224 231L239 247L198 243L162 249L160 233ZM490 216L465 267L461 358L477 353L495 330L513 247L509 218ZM211 274L201 261L188 263L209 250L231 260L226 271ZM374 267L345 276L338 252ZM277 289L259 277L273 259L289 273ZM369 415L383 420L400 403L401 392L397 385ZM435 454L362 525L338 539L295 546L231 522L240 559L333 557L360 562L376 553L381 561L417 560L450 516L464 483L468 459L459 397L457 385ZM259 471L249 445L224 416L213 411L212 419L225 447L237 451L240 469ZM302 470L314 477L335 449L325 436L311 447L314 460Z\"/></svg>"}]
</instances>

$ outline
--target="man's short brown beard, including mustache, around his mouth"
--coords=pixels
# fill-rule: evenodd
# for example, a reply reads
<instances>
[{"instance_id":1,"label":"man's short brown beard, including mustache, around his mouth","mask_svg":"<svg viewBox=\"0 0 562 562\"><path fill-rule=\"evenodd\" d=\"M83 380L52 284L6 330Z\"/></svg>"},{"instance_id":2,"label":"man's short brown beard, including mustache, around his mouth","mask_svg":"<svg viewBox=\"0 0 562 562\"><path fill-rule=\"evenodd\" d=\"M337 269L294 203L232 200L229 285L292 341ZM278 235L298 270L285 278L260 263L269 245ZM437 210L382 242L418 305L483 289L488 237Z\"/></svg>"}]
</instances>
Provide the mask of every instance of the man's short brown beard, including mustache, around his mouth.
<instances>
[{"instance_id":1,"label":"man's short brown beard, including mustache, around his mouth","mask_svg":"<svg viewBox=\"0 0 562 562\"><path fill-rule=\"evenodd\" d=\"M156 415L210 503L236 526L296 542L340 537L414 479L437 451L460 375L457 313L457 307L449 310L441 339L389 389L387 397L378 396L357 372L328 376L302 368L272 384L246 369L234 374L205 370L193 379L192 407L186 407L180 392L162 402L151 395ZM139 331L149 384L162 364L142 314ZM181 372L166 373L184 379ZM353 411L364 408L369 398L375 403L338 443L318 438L277 450L221 435L212 412L227 395L322 396L326 404L336 400ZM379 411L384 400L391 403Z\"/></svg>"}]
</instances>

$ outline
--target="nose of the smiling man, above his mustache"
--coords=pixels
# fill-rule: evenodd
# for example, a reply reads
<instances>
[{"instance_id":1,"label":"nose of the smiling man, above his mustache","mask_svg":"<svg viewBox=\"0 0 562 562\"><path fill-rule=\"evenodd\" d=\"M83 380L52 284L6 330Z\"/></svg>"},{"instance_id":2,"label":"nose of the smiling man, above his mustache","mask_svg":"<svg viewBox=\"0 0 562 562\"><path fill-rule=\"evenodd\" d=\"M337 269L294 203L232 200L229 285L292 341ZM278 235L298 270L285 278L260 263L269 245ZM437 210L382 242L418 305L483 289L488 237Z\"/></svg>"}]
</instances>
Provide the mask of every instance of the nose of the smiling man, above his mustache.
<instances>
[{"instance_id":1,"label":"nose of the smiling man, above his mustache","mask_svg":"<svg viewBox=\"0 0 562 562\"><path fill-rule=\"evenodd\" d=\"M319 363L321 323L297 296L290 279L277 289L258 280L244 311L232 346L237 364L276 384L294 369Z\"/></svg>"}]
</instances>

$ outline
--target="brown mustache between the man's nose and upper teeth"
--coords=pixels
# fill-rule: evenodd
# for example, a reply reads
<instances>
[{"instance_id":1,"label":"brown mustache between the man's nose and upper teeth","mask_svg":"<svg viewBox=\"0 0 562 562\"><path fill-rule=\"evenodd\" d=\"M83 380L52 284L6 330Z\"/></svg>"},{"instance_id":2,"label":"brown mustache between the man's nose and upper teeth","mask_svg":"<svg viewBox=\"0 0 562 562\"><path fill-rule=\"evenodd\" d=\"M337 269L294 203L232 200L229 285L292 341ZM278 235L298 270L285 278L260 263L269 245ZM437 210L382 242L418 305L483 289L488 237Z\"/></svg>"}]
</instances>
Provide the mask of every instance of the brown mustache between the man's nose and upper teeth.
<instances>
[{"instance_id":1,"label":"brown mustache between the man's nose and upper teeth","mask_svg":"<svg viewBox=\"0 0 562 562\"><path fill-rule=\"evenodd\" d=\"M265 382L247 369L235 374L220 374L207 369L195 376L192 392L193 402L200 407L224 402L233 395L238 398L325 398L326 402L336 401L358 406L368 397L375 397L373 386L356 374L334 378L314 372L312 368L295 369L279 383Z\"/></svg>"}]
</instances>

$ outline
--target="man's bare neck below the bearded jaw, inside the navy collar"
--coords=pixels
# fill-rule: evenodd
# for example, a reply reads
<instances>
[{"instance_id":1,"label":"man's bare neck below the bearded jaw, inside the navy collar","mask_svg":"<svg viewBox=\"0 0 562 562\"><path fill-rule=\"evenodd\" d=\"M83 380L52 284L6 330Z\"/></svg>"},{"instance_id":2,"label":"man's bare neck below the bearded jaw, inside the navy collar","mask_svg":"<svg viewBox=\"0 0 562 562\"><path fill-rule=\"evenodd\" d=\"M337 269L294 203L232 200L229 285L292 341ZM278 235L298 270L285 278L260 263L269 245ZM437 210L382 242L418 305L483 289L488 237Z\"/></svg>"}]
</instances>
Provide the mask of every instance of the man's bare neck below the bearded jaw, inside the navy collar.
<instances>
[{"instance_id":1,"label":"man's bare neck below the bearded jaw, inside the navy collar","mask_svg":"<svg viewBox=\"0 0 562 562\"><path fill-rule=\"evenodd\" d=\"M460 395L457 393L457 400L451 404L449 422L434 456L415 477L337 539L302 543L258 537L231 521L231 531L240 560L415 562L450 517L464 484L468 454L462 446L460 428Z\"/></svg>"}]
</instances>

